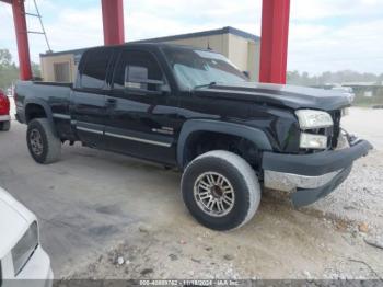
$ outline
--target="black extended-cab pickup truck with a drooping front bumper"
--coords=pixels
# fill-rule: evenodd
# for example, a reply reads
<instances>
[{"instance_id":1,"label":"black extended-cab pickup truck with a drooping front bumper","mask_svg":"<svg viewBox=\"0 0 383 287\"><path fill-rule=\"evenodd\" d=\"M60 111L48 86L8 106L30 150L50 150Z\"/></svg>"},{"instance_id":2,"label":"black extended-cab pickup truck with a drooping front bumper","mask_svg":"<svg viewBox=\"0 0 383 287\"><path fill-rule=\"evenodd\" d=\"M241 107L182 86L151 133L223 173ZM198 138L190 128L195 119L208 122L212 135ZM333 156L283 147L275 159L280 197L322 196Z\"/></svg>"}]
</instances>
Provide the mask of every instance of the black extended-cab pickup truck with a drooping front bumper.
<instances>
[{"instance_id":1,"label":"black extended-cab pickup truck with a drooping front bumper","mask_svg":"<svg viewBox=\"0 0 383 287\"><path fill-rule=\"evenodd\" d=\"M81 141L177 168L187 208L217 230L247 222L262 185L297 207L317 200L372 148L340 128L347 94L249 82L222 55L183 46L91 48L76 83L19 82L15 101L38 163Z\"/></svg>"}]
</instances>

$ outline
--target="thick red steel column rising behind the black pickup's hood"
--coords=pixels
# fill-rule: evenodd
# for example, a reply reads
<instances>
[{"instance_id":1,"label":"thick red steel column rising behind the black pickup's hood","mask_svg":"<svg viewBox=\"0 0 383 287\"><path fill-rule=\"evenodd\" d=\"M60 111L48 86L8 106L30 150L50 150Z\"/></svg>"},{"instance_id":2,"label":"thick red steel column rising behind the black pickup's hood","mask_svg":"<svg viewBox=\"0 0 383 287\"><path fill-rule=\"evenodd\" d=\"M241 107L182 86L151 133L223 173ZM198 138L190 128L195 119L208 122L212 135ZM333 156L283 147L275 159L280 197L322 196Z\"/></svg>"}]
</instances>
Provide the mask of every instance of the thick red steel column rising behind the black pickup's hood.
<instances>
[{"instance_id":1,"label":"thick red steel column rising behind the black pickup's hood","mask_svg":"<svg viewBox=\"0 0 383 287\"><path fill-rule=\"evenodd\" d=\"M286 83L290 0L263 0L259 81Z\"/></svg>"}]
</instances>

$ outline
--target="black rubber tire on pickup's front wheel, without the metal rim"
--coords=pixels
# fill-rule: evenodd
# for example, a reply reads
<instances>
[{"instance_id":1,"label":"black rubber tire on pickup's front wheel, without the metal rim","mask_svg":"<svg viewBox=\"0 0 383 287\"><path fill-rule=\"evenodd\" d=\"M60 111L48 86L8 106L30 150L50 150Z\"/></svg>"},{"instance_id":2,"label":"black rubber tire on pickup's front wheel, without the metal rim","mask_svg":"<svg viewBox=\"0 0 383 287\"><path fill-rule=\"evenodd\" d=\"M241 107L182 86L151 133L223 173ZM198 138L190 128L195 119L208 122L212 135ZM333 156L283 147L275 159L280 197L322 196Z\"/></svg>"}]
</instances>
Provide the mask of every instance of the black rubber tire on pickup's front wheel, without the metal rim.
<instances>
[{"instance_id":1,"label":"black rubber tire on pickup's front wheel, without the metal rim","mask_svg":"<svg viewBox=\"0 0 383 287\"><path fill-rule=\"evenodd\" d=\"M210 172L228 179L235 194L232 209L221 217L204 211L195 197L198 179ZM258 209L262 194L252 167L240 156L224 150L209 151L192 161L184 171L181 187L192 216L205 227L221 231L240 228L251 220Z\"/></svg>"}]
</instances>

